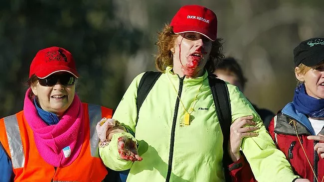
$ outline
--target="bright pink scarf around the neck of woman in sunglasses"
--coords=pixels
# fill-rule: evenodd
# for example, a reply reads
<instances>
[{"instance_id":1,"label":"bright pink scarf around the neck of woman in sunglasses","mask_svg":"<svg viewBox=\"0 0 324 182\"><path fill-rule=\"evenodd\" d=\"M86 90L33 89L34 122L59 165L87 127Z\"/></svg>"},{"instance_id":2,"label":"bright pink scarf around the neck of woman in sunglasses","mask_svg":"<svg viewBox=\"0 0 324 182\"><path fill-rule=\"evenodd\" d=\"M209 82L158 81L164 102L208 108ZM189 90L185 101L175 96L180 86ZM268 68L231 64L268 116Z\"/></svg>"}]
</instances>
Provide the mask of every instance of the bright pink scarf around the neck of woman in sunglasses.
<instances>
[{"instance_id":1,"label":"bright pink scarf around the neck of woman in sunglasses","mask_svg":"<svg viewBox=\"0 0 324 182\"><path fill-rule=\"evenodd\" d=\"M77 94L65 111L58 124L47 125L38 115L32 100L31 91L26 91L23 111L28 125L34 133L34 140L40 156L54 167L70 165L79 155L84 139L84 114L82 103ZM63 153L63 148L70 148L70 155ZM69 151L68 151L69 152Z\"/></svg>"}]
</instances>

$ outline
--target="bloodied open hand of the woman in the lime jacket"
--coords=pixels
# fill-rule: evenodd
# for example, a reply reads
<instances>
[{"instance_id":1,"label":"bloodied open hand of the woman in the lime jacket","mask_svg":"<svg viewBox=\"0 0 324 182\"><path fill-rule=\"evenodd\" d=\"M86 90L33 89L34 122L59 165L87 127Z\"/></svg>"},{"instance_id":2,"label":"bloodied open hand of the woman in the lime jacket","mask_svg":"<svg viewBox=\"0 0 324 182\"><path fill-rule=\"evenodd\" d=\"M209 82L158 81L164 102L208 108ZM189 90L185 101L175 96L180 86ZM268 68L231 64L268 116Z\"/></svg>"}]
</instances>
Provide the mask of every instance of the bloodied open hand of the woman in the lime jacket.
<instances>
[{"instance_id":1,"label":"bloodied open hand of the woman in the lime jacket","mask_svg":"<svg viewBox=\"0 0 324 182\"><path fill-rule=\"evenodd\" d=\"M136 142L132 139L121 136L118 138L118 152L122 159L126 161L142 161L142 157L139 156Z\"/></svg>"}]
</instances>

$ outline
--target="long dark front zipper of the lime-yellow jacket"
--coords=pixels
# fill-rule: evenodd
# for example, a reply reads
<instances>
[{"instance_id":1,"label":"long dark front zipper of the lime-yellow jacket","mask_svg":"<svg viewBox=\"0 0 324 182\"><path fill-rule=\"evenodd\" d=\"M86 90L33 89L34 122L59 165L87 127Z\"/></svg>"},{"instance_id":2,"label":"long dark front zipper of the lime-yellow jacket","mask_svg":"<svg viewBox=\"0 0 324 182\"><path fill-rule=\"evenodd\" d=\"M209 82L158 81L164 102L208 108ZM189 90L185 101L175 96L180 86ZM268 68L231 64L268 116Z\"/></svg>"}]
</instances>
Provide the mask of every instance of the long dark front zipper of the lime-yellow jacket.
<instances>
[{"instance_id":1,"label":"long dark front zipper of the lime-yellow jacket","mask_svg":"<svg viewBox=\"0 0 324 182\"><path fill-rule=\"evenodd\" d=\"M170 177L171 177L172 160L173 160L173 147L174 147L174 133L175 133L175 125L176 125L176 116L178 114L179 102L180 102L180 99L179 98L181 97L181 92L182 92L184 77L185 76L183 76L182 78L179 78L179 83L180 83L179 84L179 92L178 92L178 95L179 96L176 98L175 108L174 108L174 115L173 115L172 128L171 128L169 162L168 162L168 168L167 168L167 174L166 174L165 182L169 182L170 181Z\"/></svg>"}]
</instances>

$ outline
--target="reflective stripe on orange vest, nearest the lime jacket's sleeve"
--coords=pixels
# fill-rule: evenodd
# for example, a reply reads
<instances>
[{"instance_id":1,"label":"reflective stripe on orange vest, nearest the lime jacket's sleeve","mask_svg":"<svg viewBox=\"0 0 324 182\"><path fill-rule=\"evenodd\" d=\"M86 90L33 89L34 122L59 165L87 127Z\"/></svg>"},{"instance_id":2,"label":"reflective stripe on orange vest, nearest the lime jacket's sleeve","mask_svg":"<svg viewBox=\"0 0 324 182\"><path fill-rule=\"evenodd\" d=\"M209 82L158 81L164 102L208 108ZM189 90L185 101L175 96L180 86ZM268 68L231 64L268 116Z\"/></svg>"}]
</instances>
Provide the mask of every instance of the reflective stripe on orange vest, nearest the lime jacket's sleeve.
<instances>
[{"instance_id":1,"label":"reflective stripe on orange vest, nearest the lime jacket's sleeve","mask_svg":"<svg viewBox=\"0 0 324 182\"><path fill-rule=\"evenodd\" d=\"M99 158L99 137L96 131L96 125L101 120L101 106L88 104L89 124L90 124L90 151L92 157Z\"/></svg>"}]
</instances>

